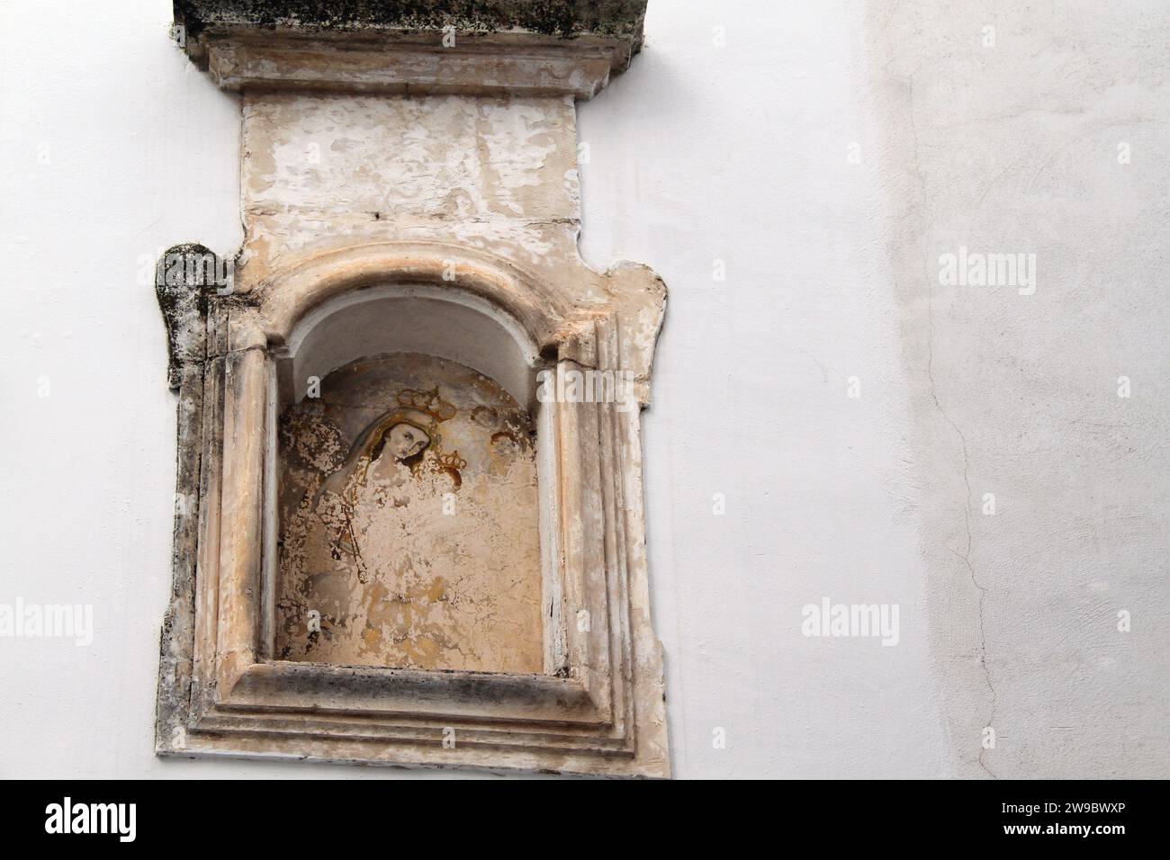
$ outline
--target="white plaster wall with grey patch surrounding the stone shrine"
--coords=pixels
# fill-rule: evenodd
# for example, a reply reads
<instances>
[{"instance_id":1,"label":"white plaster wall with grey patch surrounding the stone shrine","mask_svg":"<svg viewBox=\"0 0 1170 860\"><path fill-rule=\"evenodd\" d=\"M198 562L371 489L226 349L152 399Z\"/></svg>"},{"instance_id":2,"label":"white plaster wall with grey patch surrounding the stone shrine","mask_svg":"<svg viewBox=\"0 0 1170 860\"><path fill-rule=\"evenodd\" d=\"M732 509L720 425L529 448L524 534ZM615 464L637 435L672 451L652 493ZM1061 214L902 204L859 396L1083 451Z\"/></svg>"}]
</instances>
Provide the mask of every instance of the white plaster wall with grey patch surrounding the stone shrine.
<instances>
[{"instance_id":1,"label":"white plaster wall with grey patch surrounding the stone shrine","mask_svg":"<svg viewBox=\"0 0 1170 860\"><path fill-rule=\"evenodd\" d=\"M0 4L0 603L96 627L0 639L0 775L401 777L152 754L174 398L139 269L239 246L239 105L168 2L108 6ZM670 289L679 776L1170 775L1170 11L1018 6L651 0L580 108L583 254ZM941 287L959 245L1037 254L1034 295ZM801 635L825 597L897 604L899 645Z\"/></svg>"}]
</instances>

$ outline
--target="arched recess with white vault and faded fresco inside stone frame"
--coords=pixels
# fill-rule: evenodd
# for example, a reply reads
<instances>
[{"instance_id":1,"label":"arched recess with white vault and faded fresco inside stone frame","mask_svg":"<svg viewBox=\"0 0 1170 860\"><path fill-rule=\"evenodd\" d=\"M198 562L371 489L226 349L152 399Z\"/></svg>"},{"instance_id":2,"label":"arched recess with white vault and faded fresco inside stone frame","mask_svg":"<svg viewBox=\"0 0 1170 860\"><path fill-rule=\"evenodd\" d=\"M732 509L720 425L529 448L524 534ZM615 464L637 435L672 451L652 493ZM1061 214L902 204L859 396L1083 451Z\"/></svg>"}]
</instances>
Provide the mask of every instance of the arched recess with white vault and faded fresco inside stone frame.
<instances>
[{"instance_id":1,"label":"arched recess with white vault and faded fresco inside stone frame","mask_svg":"<svg viewBox=\"0 0 1170 860\"><path fill-rule=\"evenodd\" d=\"M312 307L270 357L270 656L556 663L551 415L524 326L457 287L372 283Z\"/></svg>"}]
</instances>

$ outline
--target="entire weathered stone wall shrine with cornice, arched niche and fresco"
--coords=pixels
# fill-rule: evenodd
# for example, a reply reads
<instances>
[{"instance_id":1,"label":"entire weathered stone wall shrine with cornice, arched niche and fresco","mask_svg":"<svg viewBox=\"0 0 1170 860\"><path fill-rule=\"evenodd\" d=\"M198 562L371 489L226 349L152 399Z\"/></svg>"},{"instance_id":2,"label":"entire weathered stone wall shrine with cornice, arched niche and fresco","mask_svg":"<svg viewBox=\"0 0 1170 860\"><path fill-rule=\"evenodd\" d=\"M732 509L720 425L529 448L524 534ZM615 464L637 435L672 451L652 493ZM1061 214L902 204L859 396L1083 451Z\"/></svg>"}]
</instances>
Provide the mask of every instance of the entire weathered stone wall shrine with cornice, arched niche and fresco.
<instances>
[{"instance_id":1,"label":"entire weathered stone wall shrine with cornice, arched niche and fresco","mask_svg":"<svg viewBox=\"0 0 1170 860\"><path fill-rule=\"evenodd\" d=\"M157 751L669 776L640 440L666 290L576 249L574 102L645 4L296 6L176 4L242 94L246 241L159 261Z\"/></svg>"}]
</instances>

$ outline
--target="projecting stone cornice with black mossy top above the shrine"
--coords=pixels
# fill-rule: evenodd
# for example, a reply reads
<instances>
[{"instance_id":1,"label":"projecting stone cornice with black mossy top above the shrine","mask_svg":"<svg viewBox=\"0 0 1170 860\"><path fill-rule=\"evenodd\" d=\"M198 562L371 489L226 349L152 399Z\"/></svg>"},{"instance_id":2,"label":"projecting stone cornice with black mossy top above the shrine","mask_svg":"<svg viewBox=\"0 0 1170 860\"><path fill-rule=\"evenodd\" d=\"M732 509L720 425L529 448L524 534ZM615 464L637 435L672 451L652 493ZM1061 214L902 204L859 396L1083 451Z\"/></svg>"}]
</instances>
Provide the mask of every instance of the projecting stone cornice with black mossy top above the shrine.
<instances>
[{"instance_id":1,"label":"projecting stone cornice with black mossy top above the shrine","mask_svg":"<svg viewBox=\"0 0 1170 860\"><path fill-rule=\"evenodd\" d=\"M187 54L229 90L590 98L641 47L646 0L176 0Z\"/></svg>"}]
</instances>

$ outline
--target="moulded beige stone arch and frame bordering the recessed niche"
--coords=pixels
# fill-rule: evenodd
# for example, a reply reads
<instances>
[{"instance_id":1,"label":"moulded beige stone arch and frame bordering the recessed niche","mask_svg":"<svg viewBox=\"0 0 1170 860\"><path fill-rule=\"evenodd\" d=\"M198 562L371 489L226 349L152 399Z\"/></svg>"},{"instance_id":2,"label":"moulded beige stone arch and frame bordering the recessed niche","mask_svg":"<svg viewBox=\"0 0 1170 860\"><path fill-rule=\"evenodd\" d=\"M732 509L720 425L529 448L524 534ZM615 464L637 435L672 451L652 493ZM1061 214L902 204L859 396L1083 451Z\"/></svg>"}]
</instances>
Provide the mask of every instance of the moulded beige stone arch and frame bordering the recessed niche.
<instances>
[{"instance_id":1,"label":"moulded beige stone arch and frame bordering the recessed niche","mask_svg":"<svg viewBox=\"0 0 1170 860\"><path fill-rule=\"evenodd\" d=\"M480 319L483 345L496 350L483 360L532 403L523 388L537 369L620 371L617 315L576 312L512 263L443 243L331 252L257 294L207 311L191 694L166 727L160 708L164 751L656 773L636 761L635 708L646 707L635 701L636 666L659 660L656 641L631 634L632 612L645 612L629 591L629 559L641 550L640 520L631 528L628 517L640 517L640 502L626 504L641 482L636 408L536 407L544 673L288 662L266 645L274 419L296 395L298 357L328 348L314 332L346 308L431 303L433 319L440 308ZM170 622L181 620L172 613ZM161 689L160 703L170 704ZM442 745L447 731L457 748Z\"/></svg>"}]
</instances>

